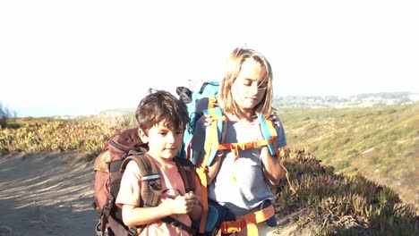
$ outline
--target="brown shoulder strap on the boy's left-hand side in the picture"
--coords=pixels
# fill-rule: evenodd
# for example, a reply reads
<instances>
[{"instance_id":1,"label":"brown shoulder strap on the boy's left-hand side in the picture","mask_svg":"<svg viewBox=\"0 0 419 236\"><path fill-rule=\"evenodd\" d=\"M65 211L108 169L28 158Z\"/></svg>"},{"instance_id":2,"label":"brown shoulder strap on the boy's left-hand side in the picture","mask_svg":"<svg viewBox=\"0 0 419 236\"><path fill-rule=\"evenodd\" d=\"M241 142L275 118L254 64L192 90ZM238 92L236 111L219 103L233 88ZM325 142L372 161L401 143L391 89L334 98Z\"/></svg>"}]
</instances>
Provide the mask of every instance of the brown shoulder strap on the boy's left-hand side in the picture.
<instances>
[{"instance_id":1,"label":"brown shoulder strap on the boy's left-hand side in the picture","mask_svg":"<svg viewBox=\"0 0 419 236\"><path fill-rule=\"evenodd\" d=\"M141 175L141 206L157 206L161 191L161 179L158 166L153 163L147 154L140 156L127 156L121 164L121 172L125 171L126 165L135 161L140 168Z\"/></svg>"}]
</instances>

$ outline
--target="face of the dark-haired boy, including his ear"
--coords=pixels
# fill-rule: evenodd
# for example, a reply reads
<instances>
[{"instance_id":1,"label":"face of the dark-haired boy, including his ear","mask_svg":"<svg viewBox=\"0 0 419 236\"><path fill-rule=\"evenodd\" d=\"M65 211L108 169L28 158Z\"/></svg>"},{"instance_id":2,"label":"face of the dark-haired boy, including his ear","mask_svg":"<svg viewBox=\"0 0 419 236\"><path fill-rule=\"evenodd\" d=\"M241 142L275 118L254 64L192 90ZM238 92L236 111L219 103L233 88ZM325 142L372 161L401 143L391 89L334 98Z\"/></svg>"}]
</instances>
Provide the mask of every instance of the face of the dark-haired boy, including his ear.
<instances>
[{"instance_id":1,"label":"face of the dark-haired boy, including his ear","mask_svg":"<svg viewBox=\"0 0 419 236\"><path fill-rule=\"evenodd\" d=\"M173 125L167 122L159 122L150 128L148 135L140 130L140 137L143 142L149 144L151 156L172 159L182 147L184 130L173 128Z\"/></svg>"}]
</instances>

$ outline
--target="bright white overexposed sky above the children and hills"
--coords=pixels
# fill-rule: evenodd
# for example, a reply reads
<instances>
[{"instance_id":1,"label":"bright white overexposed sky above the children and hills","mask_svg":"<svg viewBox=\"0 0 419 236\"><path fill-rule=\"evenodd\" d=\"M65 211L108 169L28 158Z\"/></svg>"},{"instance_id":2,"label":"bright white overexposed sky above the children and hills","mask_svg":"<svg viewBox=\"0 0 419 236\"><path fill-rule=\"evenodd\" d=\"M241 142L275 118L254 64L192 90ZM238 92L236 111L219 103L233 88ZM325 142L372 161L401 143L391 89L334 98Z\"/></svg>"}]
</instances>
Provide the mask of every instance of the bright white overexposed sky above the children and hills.
<instances>
[{"instance_id":1,"label":"bright white overexposed sky above the children and hills","mask_svg":"<svg viewBox=\"0 0 419 236\"><path fill-rule=\"evenodd\" d=\"M136 107L265 55L275 96L419 92L419 1L1 1L0 102L19 117Z\"/></svg>"}]
</instances>

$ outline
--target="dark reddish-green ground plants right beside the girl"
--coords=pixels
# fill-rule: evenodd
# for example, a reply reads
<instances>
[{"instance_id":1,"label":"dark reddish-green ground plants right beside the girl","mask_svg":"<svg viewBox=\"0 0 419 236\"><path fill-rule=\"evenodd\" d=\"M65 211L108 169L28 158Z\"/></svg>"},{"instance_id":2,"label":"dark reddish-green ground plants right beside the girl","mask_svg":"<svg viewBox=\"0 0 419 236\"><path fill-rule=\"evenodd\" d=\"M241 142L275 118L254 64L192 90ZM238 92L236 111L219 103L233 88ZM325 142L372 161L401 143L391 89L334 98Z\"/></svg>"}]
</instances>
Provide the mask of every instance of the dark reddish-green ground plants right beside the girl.
<instances>
[{"instance_id":1,"label":"dark reddish-green ground plants right beside the girl","mask_svg":"<svg viewBox=\"0 0 419 236\"><path fill-rule=\"evenodd\" d=\"M276 212L297 223L293 235L306 229L311 235L418 235L417 210L395 191L361 174L335 173L304 149L287 147L281 156L297 195L283 179Z\"/></svg>"}]
</instances>

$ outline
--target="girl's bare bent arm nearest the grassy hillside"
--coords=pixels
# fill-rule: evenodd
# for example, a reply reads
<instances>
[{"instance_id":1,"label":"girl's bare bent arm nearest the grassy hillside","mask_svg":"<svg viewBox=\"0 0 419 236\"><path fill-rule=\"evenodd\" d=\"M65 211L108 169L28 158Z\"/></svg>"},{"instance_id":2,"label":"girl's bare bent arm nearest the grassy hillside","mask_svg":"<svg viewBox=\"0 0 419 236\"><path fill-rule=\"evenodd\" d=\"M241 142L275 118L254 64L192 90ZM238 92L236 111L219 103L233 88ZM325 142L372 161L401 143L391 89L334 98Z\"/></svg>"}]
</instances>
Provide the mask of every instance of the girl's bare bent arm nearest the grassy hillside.
<instances>
[{"instance_id":1,"label":"girl's bare bent arm nearest the grassy hillside","mask_svg":"<svg viewBox=\"0 0 419 236\"><path fill-rule=\"evenodd\" d=\"M279 164L278 159L270 156L268 147L261 147L261 163L263 173L269 185L278 185L279 181L284 176L285 170Z\"/></svg>"}]
</instances>

